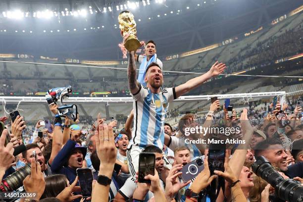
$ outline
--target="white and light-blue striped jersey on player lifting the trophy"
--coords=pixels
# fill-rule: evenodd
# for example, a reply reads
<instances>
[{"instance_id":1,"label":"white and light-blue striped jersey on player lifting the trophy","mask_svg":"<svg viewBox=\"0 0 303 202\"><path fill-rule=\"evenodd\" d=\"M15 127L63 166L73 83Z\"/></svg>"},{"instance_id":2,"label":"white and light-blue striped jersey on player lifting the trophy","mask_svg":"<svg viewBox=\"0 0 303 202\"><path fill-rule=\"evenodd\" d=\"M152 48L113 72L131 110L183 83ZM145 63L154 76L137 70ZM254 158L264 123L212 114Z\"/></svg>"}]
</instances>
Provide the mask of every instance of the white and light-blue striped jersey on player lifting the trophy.
<instances>
[{"instance_id":1,"label":"white and light-blue striped jersey on player lifting the trophy","mask_svg":"<svg viewBox=\"0 0 303 202\"><path fill-rule=\"evenodd\" d=\"M159 94L154 94L145 86L140 85L134 99L134 130L128 145L145 148L154 145L163 148L164 119L168 102L176 99L175 88L163 88Z\"/></svg>"}]
</instances>

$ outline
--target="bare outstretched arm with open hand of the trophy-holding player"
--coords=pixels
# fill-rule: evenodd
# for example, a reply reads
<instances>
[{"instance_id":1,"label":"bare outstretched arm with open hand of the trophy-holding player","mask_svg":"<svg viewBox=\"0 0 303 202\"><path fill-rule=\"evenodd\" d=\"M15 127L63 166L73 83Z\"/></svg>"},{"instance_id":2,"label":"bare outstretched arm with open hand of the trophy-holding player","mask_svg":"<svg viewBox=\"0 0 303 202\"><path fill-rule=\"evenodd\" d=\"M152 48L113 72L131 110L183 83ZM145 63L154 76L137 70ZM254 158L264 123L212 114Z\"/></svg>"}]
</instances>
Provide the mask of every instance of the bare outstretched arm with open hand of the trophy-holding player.
<instances>
[{"instance_id":1,"label":"bare outstretched arm with open hand of the trophy-holding player","mask_svg":"<svg viewBox=\"0 0 303 202\"><path fill-rule=\"evenodd\" d=\"M189 91L191 91L192 89L200 86L202 83L204 83L211 77L221 74L225 68L226 68L226 66L224 63L219 63L218 61L216 61L211 66L209 71L206 72L205 74L198 76L196 78L193 78L193 79L187 81L186 83L181 84L180 86L177 86L175 89L177 97L182 96L182 95L188 93Z\"/></svg>"}]
</instances>

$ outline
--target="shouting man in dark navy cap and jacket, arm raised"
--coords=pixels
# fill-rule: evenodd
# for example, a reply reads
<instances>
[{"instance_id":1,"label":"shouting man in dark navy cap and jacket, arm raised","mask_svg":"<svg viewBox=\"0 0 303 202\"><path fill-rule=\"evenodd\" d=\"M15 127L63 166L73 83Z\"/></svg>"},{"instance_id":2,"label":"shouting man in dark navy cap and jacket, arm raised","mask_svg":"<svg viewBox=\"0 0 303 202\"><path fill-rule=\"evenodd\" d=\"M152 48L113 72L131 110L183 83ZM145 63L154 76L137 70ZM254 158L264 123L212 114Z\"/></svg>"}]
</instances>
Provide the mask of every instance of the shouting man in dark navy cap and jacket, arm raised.
<instances>
[{"instance_id":1,"label":"shouting man in dark navy cap and jacket, arm raised","mask_svg":"<svg viewBox=\"0 0 303 202\"><path fill-rule=\"evenodd\" d=\"M69 139L53 159L51 172L63 174L69 182L73 182L77 176L76 169L82 167L85 155L86 148L78 146L75 141Z\"/></svg>"}]
</instances>

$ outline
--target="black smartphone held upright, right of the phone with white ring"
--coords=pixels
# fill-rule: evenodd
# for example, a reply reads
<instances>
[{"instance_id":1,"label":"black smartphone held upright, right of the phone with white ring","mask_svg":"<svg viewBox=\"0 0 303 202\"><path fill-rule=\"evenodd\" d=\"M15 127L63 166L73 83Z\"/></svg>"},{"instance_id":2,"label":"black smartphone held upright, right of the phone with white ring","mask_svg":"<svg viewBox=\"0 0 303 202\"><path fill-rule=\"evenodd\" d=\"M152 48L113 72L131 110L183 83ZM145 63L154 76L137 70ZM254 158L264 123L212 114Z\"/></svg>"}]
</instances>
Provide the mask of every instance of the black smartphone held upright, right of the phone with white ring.
<instances>
[{"instance_id":1,"label":"black smartphone held upright, right of the phone with white ring","mask_svg":"<svg viewBox=\"0 0 303 202\"><path fill-rule=\"evenodd\" d=\"M208 167L211 175L215 170L224 172L225 144L210 144L208 148Z\"/></svg>"}]
</instances>

